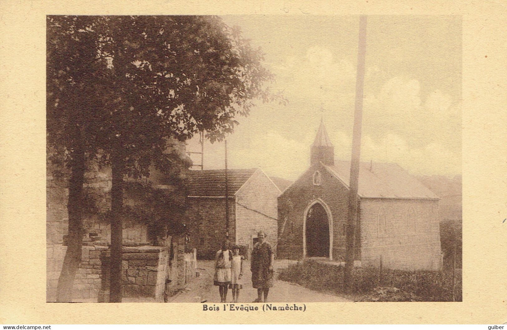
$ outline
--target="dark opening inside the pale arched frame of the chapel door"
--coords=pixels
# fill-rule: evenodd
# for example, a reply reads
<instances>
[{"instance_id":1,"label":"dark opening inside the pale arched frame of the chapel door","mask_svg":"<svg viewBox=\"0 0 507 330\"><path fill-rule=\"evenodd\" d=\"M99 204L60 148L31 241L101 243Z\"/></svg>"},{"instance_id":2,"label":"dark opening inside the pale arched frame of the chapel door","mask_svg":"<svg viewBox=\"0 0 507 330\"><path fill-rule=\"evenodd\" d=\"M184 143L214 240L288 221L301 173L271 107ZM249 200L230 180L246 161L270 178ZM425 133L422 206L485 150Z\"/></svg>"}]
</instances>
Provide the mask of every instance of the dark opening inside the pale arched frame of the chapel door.
<instances>
[{"instance_id":1,"label":"dark opening inside the pale arched frame of the chapel door","mask_svg":"<svg viewBox=\"0 0 507 330\"><path fill-rule=\"evenodd\" d=\"M306 215L306 256L329 257L329 219L320 203Z\"/></svg>"}]
</instances>

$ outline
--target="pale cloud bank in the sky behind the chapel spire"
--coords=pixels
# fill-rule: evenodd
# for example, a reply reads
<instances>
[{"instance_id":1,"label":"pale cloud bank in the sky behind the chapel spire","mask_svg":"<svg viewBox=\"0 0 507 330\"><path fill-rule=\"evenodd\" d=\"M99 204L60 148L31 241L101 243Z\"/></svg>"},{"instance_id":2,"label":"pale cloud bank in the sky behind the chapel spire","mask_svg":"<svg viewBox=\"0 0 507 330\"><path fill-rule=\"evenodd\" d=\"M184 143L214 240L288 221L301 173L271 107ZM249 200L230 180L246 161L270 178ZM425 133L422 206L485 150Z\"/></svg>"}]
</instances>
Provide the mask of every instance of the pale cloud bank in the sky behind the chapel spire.
<instances>
[{"instance_id":1,"label":"pale cloud bank in the sky behind the chapel spire","mask_svg":"<svg viewBox=\"0 0 507 330\"><path fill-rule=\"evenodd\" d=\"M336 157L349 160L355 97L351 62L313 47L273 69L284 72L278 87L285 84L289 104L259 104L240 119L228 138L229 167L260 167L270 175L299 177L309 165L320 103ZM378 78L384 73L372 67L370 74ZM361 160L396 162L414 174L460 173L460 104L441 90L424 93L417 79L394 76L373 83L378 92L365 94ZM207 143L204 162L205 169L224 168L223 144Z\"/></svg>"}]
</instances>

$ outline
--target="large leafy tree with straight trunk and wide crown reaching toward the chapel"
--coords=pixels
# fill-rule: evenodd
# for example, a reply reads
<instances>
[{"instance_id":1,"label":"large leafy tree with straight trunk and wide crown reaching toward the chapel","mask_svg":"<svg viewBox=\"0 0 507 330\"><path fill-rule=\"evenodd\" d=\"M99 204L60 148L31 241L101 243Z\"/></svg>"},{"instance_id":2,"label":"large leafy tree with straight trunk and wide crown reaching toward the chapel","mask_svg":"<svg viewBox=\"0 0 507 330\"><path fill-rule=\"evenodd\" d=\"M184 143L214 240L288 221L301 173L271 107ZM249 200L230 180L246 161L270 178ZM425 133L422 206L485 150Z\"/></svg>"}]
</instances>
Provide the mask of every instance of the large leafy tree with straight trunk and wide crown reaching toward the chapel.
<instances>
[{"instance_id":1,"label":"large leafy tree with straight trunk and wide crown reaching toward the chapel","mask_svg":"<svg viewBox=\"0 0 507 330\"><path fill-rule=\"evenodd\" d=\"M93 104L86 113L90 150L102 150L112 168L111 301L121 301L124 177L148 176L178 159L168 138L200 131L211 142L231 133L253 99L283 99L263 87L273 79L239 30L212 16L94 17ZM81 72L80 74L82 74Z\"/></svg>"}]
</instances>

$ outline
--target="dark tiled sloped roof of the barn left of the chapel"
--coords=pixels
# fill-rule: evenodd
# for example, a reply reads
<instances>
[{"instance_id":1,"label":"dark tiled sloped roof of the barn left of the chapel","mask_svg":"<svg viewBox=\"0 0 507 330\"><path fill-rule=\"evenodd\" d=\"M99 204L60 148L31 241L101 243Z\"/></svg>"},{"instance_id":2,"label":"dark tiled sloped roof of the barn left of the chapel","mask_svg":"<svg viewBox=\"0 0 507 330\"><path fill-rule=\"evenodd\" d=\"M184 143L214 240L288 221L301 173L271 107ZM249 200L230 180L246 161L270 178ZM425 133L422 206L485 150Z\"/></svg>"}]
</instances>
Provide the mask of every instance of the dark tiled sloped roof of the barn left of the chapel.
<instances>
[{"instance_id":1,"label":"dark tiled sloped roof of the barn left of the chapel","mask_svg":"<svg viewBox=\"0 0 507 330\"><path fill-rule=\"evenodd\" d=\"M227 170L228 195L234 195L257 170ZM190 171L187 179L189 196L225 196L225 170Z\"/></svg>"}]
</instances>

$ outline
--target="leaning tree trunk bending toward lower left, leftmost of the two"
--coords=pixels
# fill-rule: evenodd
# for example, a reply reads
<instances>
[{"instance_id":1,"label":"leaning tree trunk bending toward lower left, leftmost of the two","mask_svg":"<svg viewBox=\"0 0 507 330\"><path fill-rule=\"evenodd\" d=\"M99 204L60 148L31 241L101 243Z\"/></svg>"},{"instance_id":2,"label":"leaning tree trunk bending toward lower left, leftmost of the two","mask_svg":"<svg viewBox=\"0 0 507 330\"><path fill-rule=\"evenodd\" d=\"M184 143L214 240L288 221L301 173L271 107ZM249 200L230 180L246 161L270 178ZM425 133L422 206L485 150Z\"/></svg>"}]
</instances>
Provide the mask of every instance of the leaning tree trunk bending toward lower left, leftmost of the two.
<instances>
[{"instance_id":1,"label":"leaning tree trunk bending toward lower left, leftmost of the two","mask_svg":"<svg viewBox=\"0 0 507 330\"><path fill-rule=\"evenodd\" d=\"M70 160L70 178L68 185L68 236L67 251L63 258L62 270L56 287L56 301L72 301L74 278L81 263L83 246L82 200L83 181L85 175L85 151L79 129L75 141L75 148Z\"/></svg>"}]
</instances>

